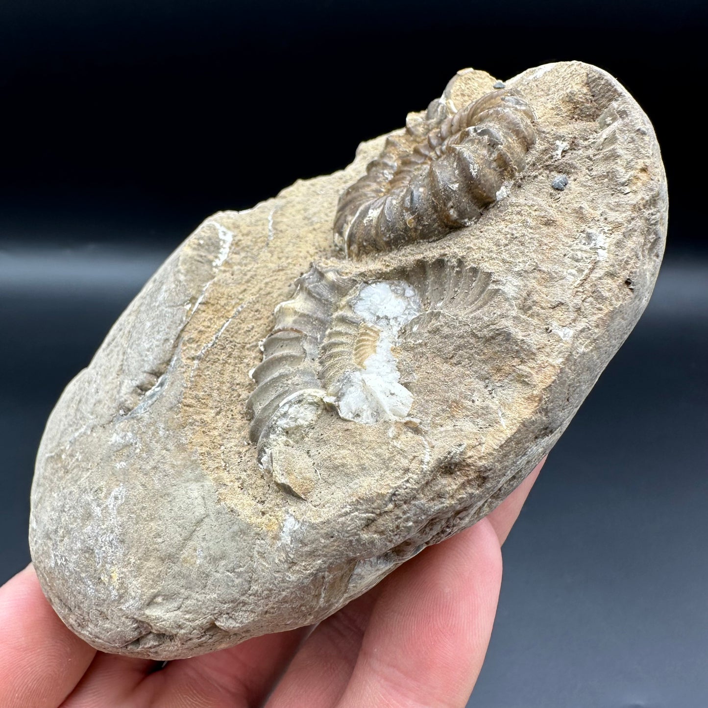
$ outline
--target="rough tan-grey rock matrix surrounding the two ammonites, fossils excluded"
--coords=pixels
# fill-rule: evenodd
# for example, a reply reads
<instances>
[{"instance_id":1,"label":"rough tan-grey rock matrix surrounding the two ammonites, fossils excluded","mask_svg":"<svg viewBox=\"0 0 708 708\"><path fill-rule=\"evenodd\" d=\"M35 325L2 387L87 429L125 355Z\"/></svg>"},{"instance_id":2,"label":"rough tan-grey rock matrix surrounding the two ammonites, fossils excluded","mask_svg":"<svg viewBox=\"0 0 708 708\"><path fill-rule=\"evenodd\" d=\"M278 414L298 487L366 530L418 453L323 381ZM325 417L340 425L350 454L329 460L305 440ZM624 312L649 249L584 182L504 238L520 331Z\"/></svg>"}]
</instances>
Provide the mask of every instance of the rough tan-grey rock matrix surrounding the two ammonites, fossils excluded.
<instances>
[{"instance_id":1,"label":"rough tan-grey rock matrix surrounding the two ammonites, fossils excluded","mask_svg":"<svg viewBox=\"0 0 708 708\"><path fill-rule=\"evenodd\" d=\"M459 72L445 101L494 81ZM35 568L74 632L169 659L317 622L479 520L554 445L649 300L666 178L648 118L600 69L548 64L506 86L537 141L471 226L344 261L337 201L377 138L346 170L208 218L122 314L53 411L33 485ZM249 371L295 280L312 261L366 278L436 258L495 292L396 349L419 423L327 410L279 472L259 469Z\"/></svg>"}]
</instances>

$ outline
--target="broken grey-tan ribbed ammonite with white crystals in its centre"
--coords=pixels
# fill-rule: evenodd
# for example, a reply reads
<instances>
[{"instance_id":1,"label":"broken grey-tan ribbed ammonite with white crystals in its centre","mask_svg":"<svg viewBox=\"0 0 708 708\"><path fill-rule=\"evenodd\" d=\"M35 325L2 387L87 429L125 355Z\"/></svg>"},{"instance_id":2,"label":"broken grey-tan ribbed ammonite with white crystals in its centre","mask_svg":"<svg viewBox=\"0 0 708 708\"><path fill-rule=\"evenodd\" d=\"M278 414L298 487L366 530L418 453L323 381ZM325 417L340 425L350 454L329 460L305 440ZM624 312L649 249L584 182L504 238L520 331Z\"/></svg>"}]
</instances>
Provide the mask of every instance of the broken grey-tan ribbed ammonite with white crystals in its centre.
<instances>
[{"instance_id":1,"label":"broken grey-tan ribbed ammonite with white crystals in its centre","mask_svg":"<svg viewBox=\"0 0 708 708\"><path fill-rule=\"evenodd\" d=\"M493 296L490 282L490 273L450 258L356 277L312 265L275 310L263 361L251 372L251 440L261 466L273 465L270 438L297 438L325 409L367 425L416 425L395 348L423 341L438 317L469 319Z\"/></svg>"}]
</instances>

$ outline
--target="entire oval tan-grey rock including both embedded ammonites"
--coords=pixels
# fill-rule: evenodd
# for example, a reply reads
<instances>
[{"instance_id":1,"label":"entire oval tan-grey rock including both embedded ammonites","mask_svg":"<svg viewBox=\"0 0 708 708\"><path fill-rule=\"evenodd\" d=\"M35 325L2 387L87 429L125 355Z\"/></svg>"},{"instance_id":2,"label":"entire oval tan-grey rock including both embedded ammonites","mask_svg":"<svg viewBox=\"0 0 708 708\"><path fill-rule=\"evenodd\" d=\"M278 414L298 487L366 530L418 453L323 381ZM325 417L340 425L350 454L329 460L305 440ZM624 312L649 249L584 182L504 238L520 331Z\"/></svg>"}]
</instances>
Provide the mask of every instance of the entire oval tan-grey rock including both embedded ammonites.
<instances>
[{"instance_id":1,"label":"entire oval tan-grey rock including both embedded ammonites","mask_svg":"<svg viewBox=\"0 0 708 708\"><path fill-rule=\"evenodd\" d=\"M212 651L479 520L639 318L667 205L646 115L563 62L459 72L347 169L207 219L47 423L30 545L59 616Z\"/></svg>"}]
</instances>

